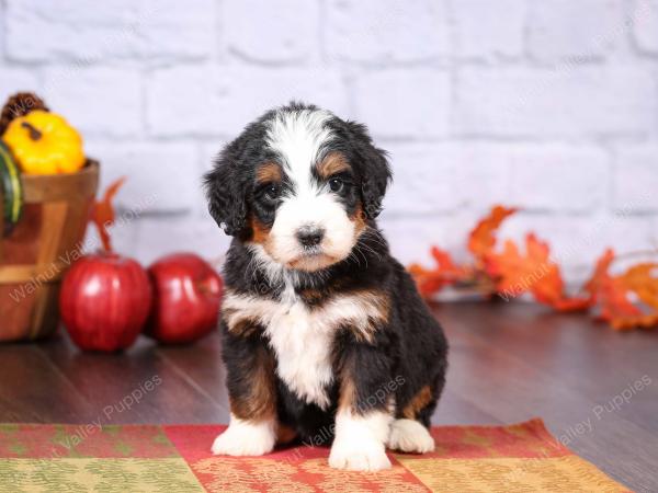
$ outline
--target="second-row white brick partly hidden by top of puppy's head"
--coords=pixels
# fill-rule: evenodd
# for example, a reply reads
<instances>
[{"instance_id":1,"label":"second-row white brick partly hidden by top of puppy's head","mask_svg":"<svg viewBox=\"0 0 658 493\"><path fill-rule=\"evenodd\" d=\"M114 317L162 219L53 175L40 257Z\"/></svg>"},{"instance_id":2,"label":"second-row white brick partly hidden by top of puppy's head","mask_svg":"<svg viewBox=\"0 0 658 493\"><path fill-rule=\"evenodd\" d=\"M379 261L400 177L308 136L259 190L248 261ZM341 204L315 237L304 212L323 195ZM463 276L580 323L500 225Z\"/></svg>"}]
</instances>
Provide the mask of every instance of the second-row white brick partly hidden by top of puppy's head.
<instances>
[{"instance_id":1,"label":"second-row white brick partly hidden by top of puppy's head","mask_svg":"<svg viewBox=\"0 0 658 493\"><path fill-rule=\"evenodd\" d=\"M198 104L195 98L181 98L182 87L194 88ZM347 112L340 74L319 68L179 67L157 71L149 88L147 121L156 136L236 136L257 116L293 99L338 115Z\"/></svg>"}]
</instances>

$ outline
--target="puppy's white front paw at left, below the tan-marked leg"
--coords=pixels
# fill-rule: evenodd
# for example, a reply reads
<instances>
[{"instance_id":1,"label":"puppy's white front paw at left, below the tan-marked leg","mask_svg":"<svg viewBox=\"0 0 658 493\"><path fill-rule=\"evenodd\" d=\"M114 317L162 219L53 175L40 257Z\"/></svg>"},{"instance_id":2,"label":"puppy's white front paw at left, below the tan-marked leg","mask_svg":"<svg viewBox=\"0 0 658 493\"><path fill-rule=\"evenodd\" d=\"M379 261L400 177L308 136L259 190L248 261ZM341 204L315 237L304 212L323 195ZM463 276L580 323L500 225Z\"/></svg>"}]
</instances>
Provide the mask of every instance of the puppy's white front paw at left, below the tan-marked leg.
<instances>
[{"instance_id":1,"label":"puppy's white front paw at left, below the tan-marked leg","mask_svg":"<svg viewBox=\"0 0 658 493\"><path fill-rule=\"evenodd\" d=\"M212 451L214 455L262 456L272 451L275 439L273 423L231 420L228 428L215 438Z\"/></svg>"}]
</instances>

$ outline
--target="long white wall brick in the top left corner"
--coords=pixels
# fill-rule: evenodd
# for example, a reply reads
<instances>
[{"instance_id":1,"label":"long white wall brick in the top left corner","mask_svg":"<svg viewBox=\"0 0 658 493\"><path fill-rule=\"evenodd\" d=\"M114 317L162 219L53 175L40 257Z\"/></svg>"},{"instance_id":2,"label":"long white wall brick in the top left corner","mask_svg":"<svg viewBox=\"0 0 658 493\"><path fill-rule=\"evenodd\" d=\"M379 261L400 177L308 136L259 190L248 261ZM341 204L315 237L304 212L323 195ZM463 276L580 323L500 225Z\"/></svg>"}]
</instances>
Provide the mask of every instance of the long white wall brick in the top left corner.
<instances>
[{"instance_id":1,"label":"long white wall brick in the top left corner","mask_svg":"<svg viewBox=\"0 0 658 493\"><path fill-rule=\"evenodd\" d=\"M7 53L21 61L205 57L214 49L214 18L212 0L111 0L102 5L8 0Z\"/></svg>"}]
</instances>

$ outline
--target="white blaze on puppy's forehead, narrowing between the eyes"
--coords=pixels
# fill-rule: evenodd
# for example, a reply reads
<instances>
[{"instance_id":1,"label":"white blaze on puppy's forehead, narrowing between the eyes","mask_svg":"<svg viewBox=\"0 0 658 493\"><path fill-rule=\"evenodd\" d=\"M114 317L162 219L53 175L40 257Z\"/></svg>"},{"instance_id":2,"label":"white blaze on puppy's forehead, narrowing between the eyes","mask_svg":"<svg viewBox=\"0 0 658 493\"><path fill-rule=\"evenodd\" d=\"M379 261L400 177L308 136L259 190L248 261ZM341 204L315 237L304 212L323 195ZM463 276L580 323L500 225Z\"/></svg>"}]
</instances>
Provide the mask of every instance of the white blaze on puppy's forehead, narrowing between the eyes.
<instances>
[{"instance_id":1,"label":"white blaze on puppy's forehead, narrowing between the eyes","mask_svg":"<svg viewBox=\"0 0 658 493\"><path fill-rule=\"evenodd\" d=\"M268 146L283 161L297 195L311 191L311 168L332 139L326 126L330 118L324 110L281 111L270 123Z\"/></svg>"}]
</instances>

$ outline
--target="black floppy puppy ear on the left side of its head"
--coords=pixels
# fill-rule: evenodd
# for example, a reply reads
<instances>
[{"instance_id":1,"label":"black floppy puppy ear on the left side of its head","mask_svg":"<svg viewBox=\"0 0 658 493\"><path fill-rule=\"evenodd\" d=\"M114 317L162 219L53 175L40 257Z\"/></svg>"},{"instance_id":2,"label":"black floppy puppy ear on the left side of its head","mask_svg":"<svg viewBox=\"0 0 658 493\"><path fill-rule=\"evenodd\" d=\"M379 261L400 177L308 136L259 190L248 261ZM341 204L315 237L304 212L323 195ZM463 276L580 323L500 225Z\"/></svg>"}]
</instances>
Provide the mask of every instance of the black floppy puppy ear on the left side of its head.
<instances>
[{"instance_id":1,"label":"black floppy puppy ear on the left side of its head","mask_svg":"<svg viewBox=\"0 0 658 493\"><path fill-rule=\"evenodd\" d=\"M204 175L208 211L226 234L236 236L247 221L246 187L238 174L237 162L225 149L215 161L213 171Z\"/></svg>"}]
</instances>

